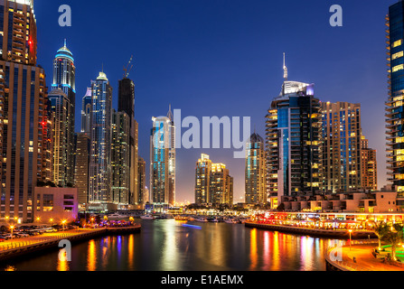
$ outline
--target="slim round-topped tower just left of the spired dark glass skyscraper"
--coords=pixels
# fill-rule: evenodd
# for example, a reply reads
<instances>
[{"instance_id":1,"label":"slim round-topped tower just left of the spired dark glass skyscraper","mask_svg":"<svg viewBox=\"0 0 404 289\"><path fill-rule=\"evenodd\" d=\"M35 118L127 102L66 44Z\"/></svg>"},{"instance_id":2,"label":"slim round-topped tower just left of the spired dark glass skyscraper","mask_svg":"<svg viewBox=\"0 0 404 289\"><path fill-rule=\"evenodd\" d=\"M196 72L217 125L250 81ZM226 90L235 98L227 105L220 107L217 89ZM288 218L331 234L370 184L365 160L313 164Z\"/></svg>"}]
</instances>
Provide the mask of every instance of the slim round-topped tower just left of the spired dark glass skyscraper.
<instances>
[{"instance_id":1,"label":"slim round-topped tower just left of the spired dark glass skyscraper","mask_svg":"<svg viewBox=\"0 0 404 289\"><path fill-rule=\"evenodd\" d=\"M266 204L267 166L264 139L254 133L249 137L246 156L246 203Z\"/></svg>"}]
</instances>

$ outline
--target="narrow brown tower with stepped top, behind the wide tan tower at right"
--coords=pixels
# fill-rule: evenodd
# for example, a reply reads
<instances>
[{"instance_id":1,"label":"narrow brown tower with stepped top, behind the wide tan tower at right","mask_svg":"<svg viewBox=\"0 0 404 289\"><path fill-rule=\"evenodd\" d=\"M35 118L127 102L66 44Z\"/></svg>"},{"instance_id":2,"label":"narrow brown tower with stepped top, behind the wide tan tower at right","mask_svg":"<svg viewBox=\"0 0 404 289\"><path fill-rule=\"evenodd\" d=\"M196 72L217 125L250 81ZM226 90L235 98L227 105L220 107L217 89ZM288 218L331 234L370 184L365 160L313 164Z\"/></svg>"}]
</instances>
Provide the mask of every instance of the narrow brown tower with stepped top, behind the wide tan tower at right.
<instances>
[{"instance_id":1,"label":"narrow brown tower with stepped top, behind the wide tan tower at right","mask_svg":"<svg viewBox=\"0 0 404 289\"><path fill-rule=\"evenodd\" d=\"M369 142L363 135L361 138L361 154L362 189L376 191L378 189L376 150L369 148Z\"/></svg>"}]
</instances>

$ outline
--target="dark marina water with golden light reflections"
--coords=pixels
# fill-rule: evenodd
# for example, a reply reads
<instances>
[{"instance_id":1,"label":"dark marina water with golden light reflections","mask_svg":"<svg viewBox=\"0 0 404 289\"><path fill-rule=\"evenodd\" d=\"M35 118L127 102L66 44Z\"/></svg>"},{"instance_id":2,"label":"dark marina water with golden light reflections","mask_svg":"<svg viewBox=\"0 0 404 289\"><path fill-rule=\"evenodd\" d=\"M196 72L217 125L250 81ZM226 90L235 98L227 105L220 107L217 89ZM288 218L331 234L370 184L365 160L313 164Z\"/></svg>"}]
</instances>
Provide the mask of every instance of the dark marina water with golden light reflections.
<instances>
[{"instance_id":1,"label":"dark marina water with golden light reflections","mask_svg":"<svg viewBox=\"0 0 404 289\"><path fill-rule=\"evenodd\" d=\"M73 244L0 265L16 271L324 271L328 239L245 228L241 224L144 220L142 232Z\"/></svg>"}]
</instances>

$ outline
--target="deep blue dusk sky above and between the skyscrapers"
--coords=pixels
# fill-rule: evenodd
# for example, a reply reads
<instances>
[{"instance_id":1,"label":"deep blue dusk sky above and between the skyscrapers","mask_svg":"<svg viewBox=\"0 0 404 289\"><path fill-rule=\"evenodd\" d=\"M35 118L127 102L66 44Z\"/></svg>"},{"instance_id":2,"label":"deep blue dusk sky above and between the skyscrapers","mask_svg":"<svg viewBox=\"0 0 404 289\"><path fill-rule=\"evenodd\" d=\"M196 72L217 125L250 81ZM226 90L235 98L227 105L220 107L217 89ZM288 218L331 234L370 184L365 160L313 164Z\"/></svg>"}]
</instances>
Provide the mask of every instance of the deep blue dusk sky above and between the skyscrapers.
<instances>
[{"instance_id":1,"label":"deep blue dusk sky above and between the skyscrapers","mask_svg":"<svg viewBox=\"0 0 404 289\"><path fill-rule=\"evenodd\" d=\"M130 56L135 68L139 154L149 159L151 117L171 103L183 116L252 117L265 135L265 116L282 85L282 53L289 79L315 83L322 101L362 104L363 134L378 150L379 186L386 183L384 101L387 99L385 15L396 0L35 0L38 63L52 83L52 60L67 38L77 67L80 102L101 70L114 88ZM58 25L70 5L72 27ZM343 7L343 27L329 25L331 5ZM201 153L226 163L234 199L244 197L244 160L232 150L179 150L177 200L194 200L194 168ZM148 175L148 166L147 166Z\"/></svg>"}]
</instances>

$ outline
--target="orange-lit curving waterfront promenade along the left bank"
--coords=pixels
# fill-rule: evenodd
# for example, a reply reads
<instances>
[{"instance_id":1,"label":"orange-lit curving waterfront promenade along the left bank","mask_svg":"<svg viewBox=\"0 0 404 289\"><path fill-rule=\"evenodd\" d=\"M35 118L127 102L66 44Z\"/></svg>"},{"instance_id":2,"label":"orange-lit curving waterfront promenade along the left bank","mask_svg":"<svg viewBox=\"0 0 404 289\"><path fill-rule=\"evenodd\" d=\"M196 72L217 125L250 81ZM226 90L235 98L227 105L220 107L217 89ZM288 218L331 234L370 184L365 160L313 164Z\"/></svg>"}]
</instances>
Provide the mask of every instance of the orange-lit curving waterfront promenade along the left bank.
<instances>
[{"instance_id":1,"label":"orange-lit curving waterfront promenade along the left bank","mask_svg":"<svg viewBox=\"0 0 404 289\"><path fill-rule=\"evenodd\" d=\"M0 261L15 256L21 256L48 248L58 248L61 240L70 242L99 238L101 236L132 234L140 232L141 226L116 228L79 228L55 233L46 233L41 236L28 238L15 238L0 243Z\"/></svg>"}]
</instances>

